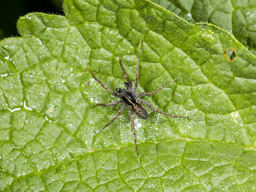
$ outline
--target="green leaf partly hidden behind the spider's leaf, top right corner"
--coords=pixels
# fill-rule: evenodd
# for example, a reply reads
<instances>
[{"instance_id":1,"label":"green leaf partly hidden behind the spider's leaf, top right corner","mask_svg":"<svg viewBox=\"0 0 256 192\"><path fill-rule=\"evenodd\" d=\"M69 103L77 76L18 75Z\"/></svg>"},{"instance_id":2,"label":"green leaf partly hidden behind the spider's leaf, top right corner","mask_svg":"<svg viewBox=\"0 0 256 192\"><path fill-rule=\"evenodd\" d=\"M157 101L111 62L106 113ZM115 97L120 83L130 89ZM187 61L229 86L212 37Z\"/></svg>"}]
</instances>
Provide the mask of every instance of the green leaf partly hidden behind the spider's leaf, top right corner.
<instances>
[{"instance_id":1,"label":"green leaf partly hidden behind the spider's leaf, top right corner","mask_svg":"<svg viewBox=\"0 0 256 192\"><path fill-rule=\"evenodd\" d=\"M256 53L256 2L236 0L163 0L156 1L165 9L179 14L187 21L210 22L233 33L234 36Z\"/></svg>"}]
</instances>

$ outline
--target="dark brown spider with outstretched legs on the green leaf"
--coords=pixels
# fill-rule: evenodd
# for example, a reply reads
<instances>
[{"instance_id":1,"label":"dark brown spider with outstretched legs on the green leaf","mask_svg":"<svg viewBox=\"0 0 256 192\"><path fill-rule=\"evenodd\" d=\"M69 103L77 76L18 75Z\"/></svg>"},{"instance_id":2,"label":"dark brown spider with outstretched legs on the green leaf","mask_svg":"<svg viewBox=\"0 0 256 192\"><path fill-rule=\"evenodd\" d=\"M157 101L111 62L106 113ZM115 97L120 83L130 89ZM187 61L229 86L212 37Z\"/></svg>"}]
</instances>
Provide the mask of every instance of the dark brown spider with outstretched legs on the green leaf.
<instances>
[{"instance_id":1,"label":"dark brown spider with outstretched legs on the green leaf","mask_svg":"<svg viewBox=\"0 0 256 192\"><path fill-rule=\"evenodd\" d=\"M118 55L119 57L119 64L123 70L124 73L124 77L126 79L127 82L124 82L124 85L126 86L126 89L120 89L117 88L116 92L110 90L106 85L104 85L97 77L95 77L95 75L92 73L92 71L90 71L89 69L87 69L87 71L92 75L92 77L99 83L101 84L101 86L107 90L110 94L112 94L114 97L118 97L120 98L120 100L115 101L115 102L111 102L111 103L98 103L95 106L115 106L118 104L123 103L123 106L119 109L119 111L117 112L117 114L115 115L115 117L113 119L111 119L110 122L108 122L103 129L99 132L101 133L108 125L110 125L111 123L113 123L117 117L124 111L124 109L126 107L129 107L129 117L132 123L132 131L133 131L133 139L134 139L134 144L135 144L135 149L136 149L136 153L137 153L137 157L138 157L138 164L140 166L140 158L139 158L139 151L138 151L138 147L137 147L137 137L136 137L136 133L135 133L135 123L134 123L134 119L133 119L133 115L132 112L139 118L141 119L148 119L148 112L147 109L143 106L147 106L149 107L151 110L156 111L157 113L160 114L164 114L170 117L174 117L174 118L178 118L178 117L182 117L182 118L188 118L191 119L193 121L196 121L195 119L191 118L191 117L187 117L187 116L176 116L176 115L172 115L172 114L168 114L165 113L164 111L158 110L155 107L153 107L149 102L143 100L143 99L139 99L140 97L144 97L144 96L149 96L149 95L153 95L155 93L157 93L158 91L162 90L165 86L169 85L170 83L174 82L177 80L173 79L172 81L167 82L166 84L164 84L163 86L159 87L158 89L156 89L155 91L152 92L145 92L145 93L139 93L137 94L137 89L138 89L138 83L139 83L139 57L140 57L140 46L141 46L141 40L139 42L139 49L138 49L138 55L137 55L137 65L136 65L136 75L135 75L135 85L134 88L132 87L132 82L129 79L129 77L127 76L127 73L124 69L122 60L120 55ZM143 105L142 105L143 104Z\"/></svg>"}]
</instances>

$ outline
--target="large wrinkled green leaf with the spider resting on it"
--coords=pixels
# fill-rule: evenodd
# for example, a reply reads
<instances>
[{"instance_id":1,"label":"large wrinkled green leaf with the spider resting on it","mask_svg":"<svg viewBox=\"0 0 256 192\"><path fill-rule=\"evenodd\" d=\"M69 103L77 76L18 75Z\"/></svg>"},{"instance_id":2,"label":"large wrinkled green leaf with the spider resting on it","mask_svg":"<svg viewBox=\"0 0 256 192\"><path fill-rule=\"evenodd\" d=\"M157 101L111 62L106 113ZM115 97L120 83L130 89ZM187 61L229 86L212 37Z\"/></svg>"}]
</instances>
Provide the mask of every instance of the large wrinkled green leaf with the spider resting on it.
<instances>
[{"instance_id":1,"label":"large wrinkled green leaf with the spider resting on it","mask_svg":"<svg viewBox=\"0 0 256 192\"><path fill-rule=\"evenodd\" d=\"M149 1L63 2L66 16L30 13L21 37L0 42L2 191L254 191L256 58L227 31L191 25ZM135 117L138 167L127 110L120 106L120 54L139 92L177 81ZM234 50L236 59L225 54ZM234 57L233 57L234 58Z\"/></svg>"}]
</instances>

